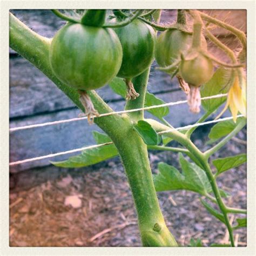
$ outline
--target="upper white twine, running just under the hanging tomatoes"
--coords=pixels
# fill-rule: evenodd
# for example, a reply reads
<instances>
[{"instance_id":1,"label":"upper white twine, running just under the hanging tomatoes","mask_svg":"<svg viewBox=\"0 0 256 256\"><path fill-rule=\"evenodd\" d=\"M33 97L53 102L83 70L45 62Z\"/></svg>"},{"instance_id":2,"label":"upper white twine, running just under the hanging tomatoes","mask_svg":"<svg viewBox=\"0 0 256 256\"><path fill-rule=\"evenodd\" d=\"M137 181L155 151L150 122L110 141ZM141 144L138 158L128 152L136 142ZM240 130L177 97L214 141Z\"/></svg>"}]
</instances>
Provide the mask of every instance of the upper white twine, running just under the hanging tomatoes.
<instances>
[{"instance_id":1,"label":"upper white twine, running just under the hanging tomatoes","mask_svg":"<svg viewBox=\"0 0 256 256\"><path fill-rule=\"evenodd\" d=\"M220 97L225 97L225 96L227 96L227 93L219 94L219 95L213 95L213 96L207 96L207 97L201 98L201 100L220 98ZM123 114L123 113L129 113L129 112L136 112L136 111L140 111L140 110L157 109L158 107L174 106L174 105L179 105L179 104L183 104L183 103L187 103L187 100L179 100L178 102L169 102L169 103L160 104L160 105L154 105L154 106L148 106L148 107L140 107L139 109L131 109L131 110L123 110L123 111L117 111L117 112L109 112L109 113L100 114L98 117L111 116L112 114ZM96 116L93 116L93 117L96 118ZM10 128L9 131L10 132L14 132L14 131L18 131L18 130L25 130L25 129L31 129L31 128L36 128L36 127L55 125L55 124L63 124L63 123L69 123L69 122L74 122L74 121L80 121L80 120L84 120L84 119L87 119L87 117L76 117L76 118L65 119L65 120L58 120L58 121L47 122L47 123L42 123L42 124L25 125L25 126Z\"/></svg>"}]
</instances>

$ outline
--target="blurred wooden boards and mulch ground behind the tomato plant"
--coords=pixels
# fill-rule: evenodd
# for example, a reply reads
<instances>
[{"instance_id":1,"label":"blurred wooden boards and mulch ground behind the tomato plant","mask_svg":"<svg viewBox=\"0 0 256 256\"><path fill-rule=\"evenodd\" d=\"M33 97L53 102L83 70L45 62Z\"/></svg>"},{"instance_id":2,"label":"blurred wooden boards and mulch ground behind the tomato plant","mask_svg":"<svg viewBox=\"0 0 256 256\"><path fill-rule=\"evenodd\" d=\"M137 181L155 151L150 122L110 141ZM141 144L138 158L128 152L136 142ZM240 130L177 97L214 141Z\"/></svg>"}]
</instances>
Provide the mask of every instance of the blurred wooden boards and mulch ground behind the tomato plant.
<instances>
[{"instance_id":1,"label":"blurred wooden boards and mulch ground behind the tomato plant","mask_svg":"<svg viewBox=\"0 0 256 256\"><path fill-rule=\"evenodd\" d=\"M246 32L246 10L204 11ZM32 30L49 38L65 24L50 10L11 12ZM175 19L175 10L164 10L161 15L163 23L172 23ZM239 48L237 39L227 31L214 29L213 33L230 48ZM215 57L228 61L211 42L208 48ZM171 80L155 68L154 62L149 92L165 102L186 99L177 80ZM109 86L97 92L113 110L123 110L124 99ZM10 49L10 127L69 119L79 113L41 71ZM203 110L193 114L186 104L181 104L170 107L166 120L179 127L195 123L202 113ZM227 111L224 116L230 113ZM207 148L210 129L211 125L201 126L193 135L193 141L202 150ZM92 131L100 129L81 120L12 132L10 162L93 145ZM245 140L246 129L214 157L246 152ZM172 145L175 144L172 142ZM154 173L160 161L179 167L175 153L154 151L149 156ZM245 164L226 172L218 181L232 195L227 198L227 204L246 208ZM207 213L196 193L174 191L158 195L167 226L180 245L188 246L191 238L200 238L204 246L228 241L225 226ZM72 200L77 204L69 204ZM246 246L246 229L236 231L235 235L238 246ZM10 167L10 246L141 246L136 212L120 159L81 169L55 167L49 159Z\"/></svg>"}]
</instances>

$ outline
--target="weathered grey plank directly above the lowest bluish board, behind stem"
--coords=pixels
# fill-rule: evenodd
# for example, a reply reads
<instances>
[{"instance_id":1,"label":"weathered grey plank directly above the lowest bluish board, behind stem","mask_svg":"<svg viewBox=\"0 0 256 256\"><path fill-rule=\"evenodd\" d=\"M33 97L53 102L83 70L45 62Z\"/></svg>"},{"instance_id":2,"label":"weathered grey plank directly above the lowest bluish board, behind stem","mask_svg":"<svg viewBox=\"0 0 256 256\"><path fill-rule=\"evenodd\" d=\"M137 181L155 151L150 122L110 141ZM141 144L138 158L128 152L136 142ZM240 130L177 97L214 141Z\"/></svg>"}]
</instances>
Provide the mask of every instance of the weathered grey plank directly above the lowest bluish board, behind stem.
<instances>
[{"instance_id":1,"label":"weathered grey plank directly above the lowest bluish board, behind stem","mask_svg":"<svg viewBox=\"0 0 256 256\"><path fill-rule=\"evenodd\" d=\"M154 71L150 77L149 91L159 91L177 88L175 80L163 72ZM109 86L97 90L106 102L121 99L113 93ZM51 80L44 76L41 71L35 68L24 58L10 59L10 118L29 116L33 114L53 112L73 107L73 103L62 91L60 91Z\"/></svg>"}]
</instances>

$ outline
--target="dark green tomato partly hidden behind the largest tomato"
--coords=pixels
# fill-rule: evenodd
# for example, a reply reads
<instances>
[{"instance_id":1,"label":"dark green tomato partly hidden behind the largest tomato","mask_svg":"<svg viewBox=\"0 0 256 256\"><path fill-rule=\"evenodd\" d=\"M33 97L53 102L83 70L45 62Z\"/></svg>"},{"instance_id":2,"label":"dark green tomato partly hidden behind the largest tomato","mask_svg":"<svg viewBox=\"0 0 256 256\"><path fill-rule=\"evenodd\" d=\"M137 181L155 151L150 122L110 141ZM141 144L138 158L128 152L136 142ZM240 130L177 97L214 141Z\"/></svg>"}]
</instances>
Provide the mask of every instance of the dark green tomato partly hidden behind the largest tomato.
<instances>
[{"instance_id":1,"label":"dark green tomato partly hidden behind the largest tomato","mask_svg":"<svg viewBox=\"0 0 256 256\"><path fill-rule=\"evenodd\" d=\"M138 19L114 31L123 48L122 65L117 76L133 78L140 75L153 62L156 32Z\"/></svg>"}]
</instances>

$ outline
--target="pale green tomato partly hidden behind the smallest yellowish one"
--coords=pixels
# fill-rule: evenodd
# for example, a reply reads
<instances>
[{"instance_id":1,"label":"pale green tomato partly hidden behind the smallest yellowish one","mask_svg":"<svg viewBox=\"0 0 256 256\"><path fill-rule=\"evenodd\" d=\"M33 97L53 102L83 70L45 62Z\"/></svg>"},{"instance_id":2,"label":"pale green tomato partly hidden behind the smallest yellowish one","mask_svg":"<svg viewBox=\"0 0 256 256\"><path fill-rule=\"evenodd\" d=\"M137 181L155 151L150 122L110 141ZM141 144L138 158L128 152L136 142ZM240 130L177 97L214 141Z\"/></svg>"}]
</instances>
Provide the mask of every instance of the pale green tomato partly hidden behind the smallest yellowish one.
<instances>
[{"instance_id":1,"label":"pale green tomato partly hidden behind the smallest yellowish one","mask_svg":"<svg viewBox=\"0 0 256 256\"><path fill-rule=\"evenodd\" d=\"M192 35L178 29L165 30L157 38L154 55L161 67L171 65L181 52L186 52L192 44ZM201 37L202 49L207 49L206 39Z\"/></svg>"}]
</instances>

